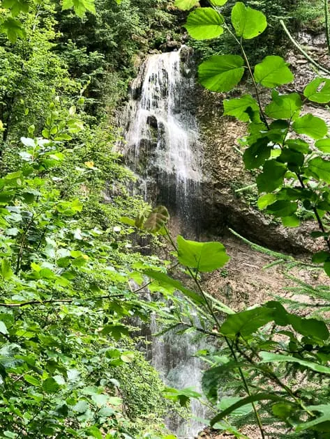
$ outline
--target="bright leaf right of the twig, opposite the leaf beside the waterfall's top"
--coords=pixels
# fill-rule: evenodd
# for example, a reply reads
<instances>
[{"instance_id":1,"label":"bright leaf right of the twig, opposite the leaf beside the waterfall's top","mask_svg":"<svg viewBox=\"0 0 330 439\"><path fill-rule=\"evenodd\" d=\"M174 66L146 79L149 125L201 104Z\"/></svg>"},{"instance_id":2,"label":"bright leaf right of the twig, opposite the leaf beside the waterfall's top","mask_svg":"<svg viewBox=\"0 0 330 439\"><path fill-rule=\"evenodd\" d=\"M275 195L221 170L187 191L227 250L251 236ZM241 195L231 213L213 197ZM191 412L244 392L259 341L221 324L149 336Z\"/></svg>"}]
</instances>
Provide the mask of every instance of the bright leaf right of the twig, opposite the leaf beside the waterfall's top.
<instances>
[{"instance_id":1,"label":"bright leaf right of the twig, opposite the leaf beside the waterfall's top","mask_svg":"<svg viewBox=\"0 0 330 439\"><path fill-rule=\"evenodd\" d=\"M255 66L255 81L270 88L292 82L294 75L287 67L288 65L280 56L266 56L260 64Z\"/></svg>"}]
</instances>

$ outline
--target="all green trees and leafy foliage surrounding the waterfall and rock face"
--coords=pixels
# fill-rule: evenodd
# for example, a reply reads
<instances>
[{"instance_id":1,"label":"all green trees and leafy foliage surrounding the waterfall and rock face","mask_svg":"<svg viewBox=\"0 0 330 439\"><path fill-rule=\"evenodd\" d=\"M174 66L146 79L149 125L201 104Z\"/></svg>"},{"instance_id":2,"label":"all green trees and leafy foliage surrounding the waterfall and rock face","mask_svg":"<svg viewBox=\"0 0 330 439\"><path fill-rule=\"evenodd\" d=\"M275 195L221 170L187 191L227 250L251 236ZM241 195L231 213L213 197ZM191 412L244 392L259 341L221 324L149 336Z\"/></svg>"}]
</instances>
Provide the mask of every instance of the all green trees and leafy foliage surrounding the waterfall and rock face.
<instances>
[{"instance_id":1,"label":"all green trees and leafy foliage surrounding the waterfall and rock face","mask_svg":"<svg viewBox=\"0 0 330 439\"><path fill-rule=\"evenodd\" d=\"M305 28L324 33L322 56ZM329 284L225 305L203 284L225 247L174 237L116 147L144 59L193 47L198 82L246 124L257 206L285 227L313 219L319 246L303 261L254 248L329 276L329 127L306 110L330 102L328 1L2 0L0 32L0 437L174 439L164 419L189 417L190 399L210 434L329 437ZM289 46L315 68L303 89ZM147 361L139 328L155 316L211 339L204 395Z\"/></svg>"}]
</instances>

